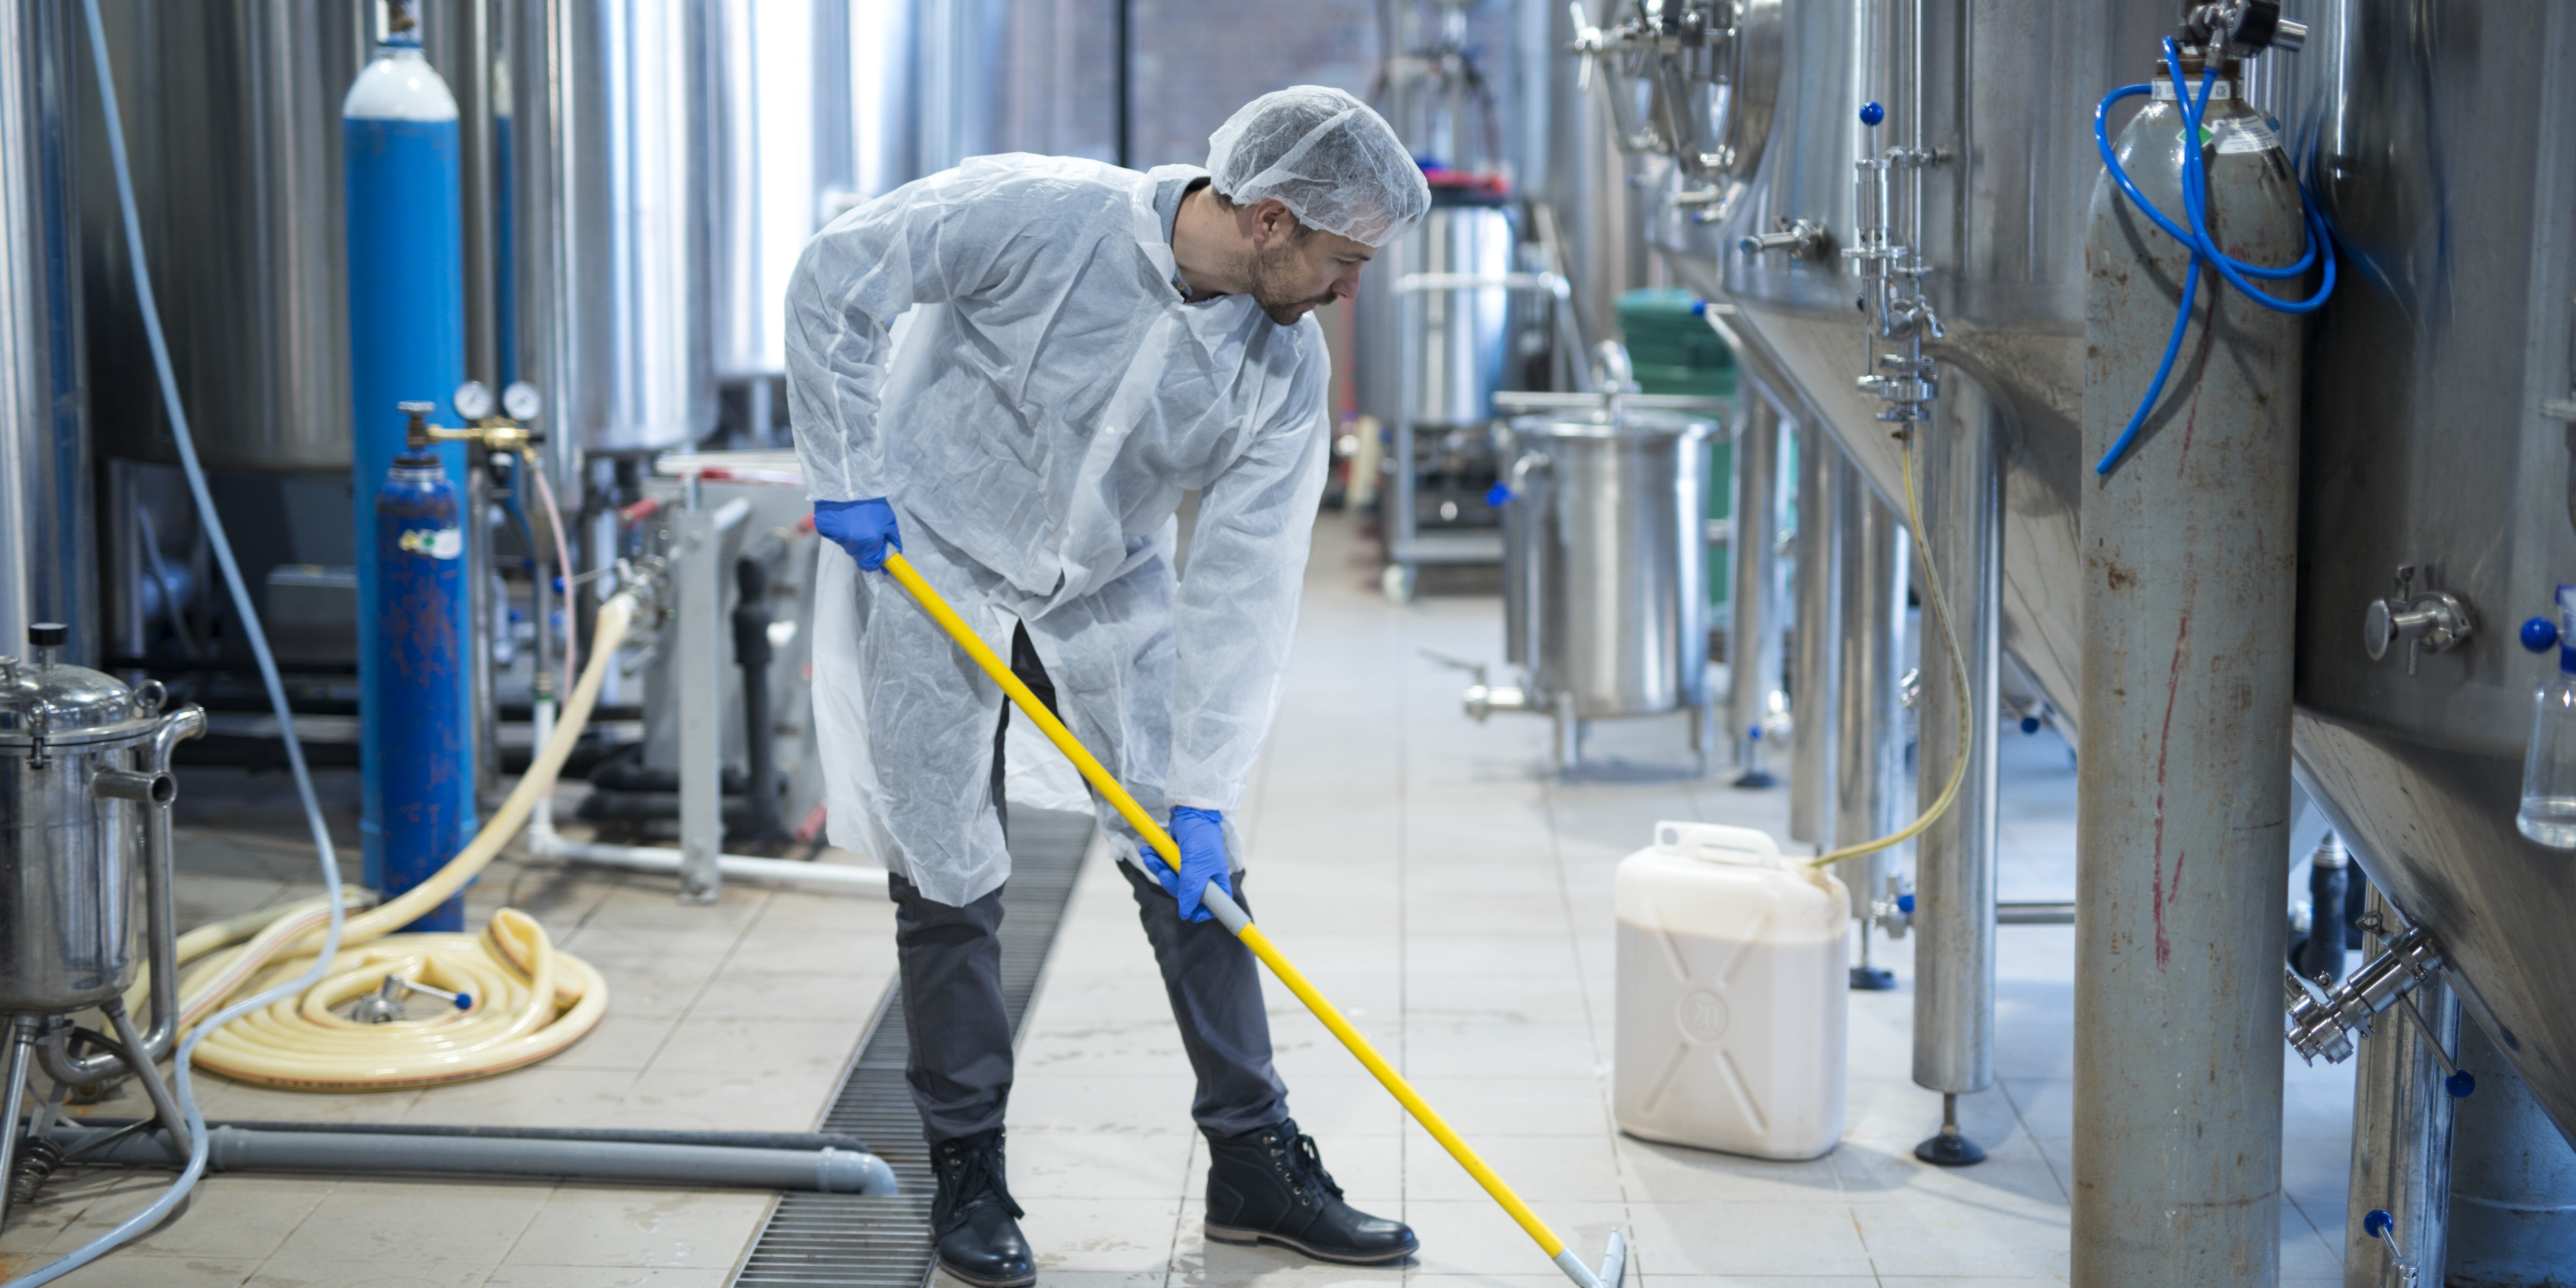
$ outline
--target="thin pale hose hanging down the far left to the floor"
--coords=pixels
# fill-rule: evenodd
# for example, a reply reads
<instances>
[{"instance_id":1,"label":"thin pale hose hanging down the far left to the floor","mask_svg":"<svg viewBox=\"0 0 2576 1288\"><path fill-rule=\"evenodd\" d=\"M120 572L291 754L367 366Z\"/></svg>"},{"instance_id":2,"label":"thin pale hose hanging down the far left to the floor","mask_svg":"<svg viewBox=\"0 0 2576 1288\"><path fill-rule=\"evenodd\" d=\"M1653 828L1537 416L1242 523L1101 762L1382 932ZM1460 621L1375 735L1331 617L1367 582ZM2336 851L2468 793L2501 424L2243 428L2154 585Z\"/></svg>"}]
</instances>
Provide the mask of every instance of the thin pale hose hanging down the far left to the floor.
<instances>
[{"instance_id":1,"label":"thin pale hose hanging down the far left to the floor","mask_svg":"<svg viewBox=\"0 0 2576 1288\"><path fill-rule=\"evenodd\" d=\"M152 1206L124 1218L116 1229L80 1244L80 1249L57 1262L8 1280L0 1288L33 1288L39 1283L54 1283L57 1278L116 1252L116 1247L126 1239L157 1226L173 1208L178 1208L180 1198L188 1198L188 1190L193 1190L198 1177L206 1175L206 1115L196 1108L196 1090L188 1079L188 1056L196 1054L196 1043L232 1020L319 984L322 971L340 953L340 925L348 912L340 899L340 855L330 845L330 824L322 822L322 801L314 796L312 770L304 765L304 744L296 739L296 719L286 706L286 685L278 680L278 659L268 652L268 631L260 629L260 613L252 608L250 587L242 582L242 564L232 556L232 541L224 538L224 520L214 513L214 495L206 489L206 469L196 461L196 438L188 433L188 412L178 402L178 374L170 368L170 340L162 335L160 304L152 299L152 270L144 263L142 219L134 214L134 173L126 165L126 131L116 111L116 77L108 67L108 36L98 21L98 0L82 0L82 13L90 26L90 62L98 70L98 100L100 108L106 108L108 157L116 162L116 204L124 211L126 224L126 258L134 265L134 296L142 304L144 337L152 343L152 368L160 374L162 407L170 412L170 438L178 440L178 464L188 471L188 495L196 497L196 515L206 526L206 541L214 546L214 562L224 569L224 587L232 590L232 608L242 616L242 636L250 641L250 654L260 662L260 683L268 685L268 706L278 714L278 737L286 739L286 768L296 778L296 796L304 801L304 822L312 827L314 850L322 855L322 889L330 894L330 927L322 933L322 953L314 958L309 971L294 981L278 984L258 997L245 997L209 1015L206 1023L196 1025L196 1030L188 1033L188 1041L178 1046L173 1082L178 1105L188 1118L191 1141L188 1167L180 1170L178 1180L173 1180L170 1188L152 1200ZM152 1077L149 1069L142 1074Z\"/></svg>"}]
</instances>

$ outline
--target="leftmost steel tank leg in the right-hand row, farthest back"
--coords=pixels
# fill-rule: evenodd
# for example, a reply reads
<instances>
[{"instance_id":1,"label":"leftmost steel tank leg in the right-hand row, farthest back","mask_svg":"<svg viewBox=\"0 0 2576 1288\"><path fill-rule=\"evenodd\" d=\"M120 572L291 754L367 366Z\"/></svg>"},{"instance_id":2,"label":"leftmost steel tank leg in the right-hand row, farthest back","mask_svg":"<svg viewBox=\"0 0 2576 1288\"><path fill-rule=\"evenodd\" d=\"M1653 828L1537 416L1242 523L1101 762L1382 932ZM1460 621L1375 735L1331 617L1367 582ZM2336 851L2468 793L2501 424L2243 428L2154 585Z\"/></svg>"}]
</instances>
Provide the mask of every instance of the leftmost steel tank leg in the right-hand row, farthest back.
<instances>
[{"instance_id":1,"label":"leftmost steel tank leg in the right-hand row, farthest back","mask_svg":"<svg viewBox=\"0 0 2576 1288\"><path fill-rule=\"evenodd\" d=\"M1770 747L1762 726L1780 693L1780 407L1759 381L1744 384L1734 520L1726 726L1736 739L1736 786L1770 788L1780 783L1762 755Z\"/></svg>"}]
</instances>

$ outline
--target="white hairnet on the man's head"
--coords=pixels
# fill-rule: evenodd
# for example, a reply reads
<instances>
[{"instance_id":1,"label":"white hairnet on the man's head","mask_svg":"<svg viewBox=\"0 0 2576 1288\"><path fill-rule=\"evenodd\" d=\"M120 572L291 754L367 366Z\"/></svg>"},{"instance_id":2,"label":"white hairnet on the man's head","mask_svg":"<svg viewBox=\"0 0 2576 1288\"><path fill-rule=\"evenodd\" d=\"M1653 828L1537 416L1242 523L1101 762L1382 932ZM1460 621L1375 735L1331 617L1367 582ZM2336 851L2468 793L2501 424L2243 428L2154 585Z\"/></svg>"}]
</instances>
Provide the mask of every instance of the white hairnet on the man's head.
<instances>
[{"instance_id":1,"label":"white hairnet on the man's head","mask_svg":"<svg viewBox=\"0 0 2576 1288\"><path fill-rule=\"evenodd\" d=\"M1236 206L1275 196L1298 224L1386 245L1432 206L1404 139L1342 90L1291 85L1208 134L1208 175Z\"/></svg>"}]
</instances>

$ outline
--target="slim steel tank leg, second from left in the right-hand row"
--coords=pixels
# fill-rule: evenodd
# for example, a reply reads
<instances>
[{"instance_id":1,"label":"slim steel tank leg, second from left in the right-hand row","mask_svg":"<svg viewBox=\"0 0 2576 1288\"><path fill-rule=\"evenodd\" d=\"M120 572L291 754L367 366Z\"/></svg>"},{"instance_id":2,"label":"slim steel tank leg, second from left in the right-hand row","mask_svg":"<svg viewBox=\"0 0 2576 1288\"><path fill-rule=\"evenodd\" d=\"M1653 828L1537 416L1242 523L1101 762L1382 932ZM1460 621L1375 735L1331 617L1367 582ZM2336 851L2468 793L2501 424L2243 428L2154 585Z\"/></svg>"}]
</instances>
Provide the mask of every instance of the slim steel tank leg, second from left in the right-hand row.
<instances>
[{"instance_id":1,"label":"slim steel tank leg, second from left in the right-hand row","mask_svg":"<svg viewBox=\"0 0 2576 1288\"><path fill-rule=\"evenodd\" d=\"M1788 835L1816 850L1834 845L1834 639L1842 636L1834 595L1834 477L1842 448L1814 422L1795 422L1798 443L1798 636L1790 654L1788 716L1795 742L1788 770Z\"/></svg>"}]
</instances>

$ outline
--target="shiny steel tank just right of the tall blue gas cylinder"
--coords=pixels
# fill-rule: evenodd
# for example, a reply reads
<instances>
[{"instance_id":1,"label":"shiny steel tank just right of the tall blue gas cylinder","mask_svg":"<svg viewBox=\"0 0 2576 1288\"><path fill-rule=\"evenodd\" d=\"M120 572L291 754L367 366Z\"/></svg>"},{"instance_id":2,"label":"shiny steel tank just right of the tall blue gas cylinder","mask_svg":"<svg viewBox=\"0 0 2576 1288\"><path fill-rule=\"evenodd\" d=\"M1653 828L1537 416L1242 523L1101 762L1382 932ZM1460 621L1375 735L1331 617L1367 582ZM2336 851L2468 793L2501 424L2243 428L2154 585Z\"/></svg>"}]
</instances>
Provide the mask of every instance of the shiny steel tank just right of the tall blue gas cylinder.
<instances>
[{"instance_id":1,"label":"shiny steel tank just right of the tall blue gas cylinder","mask_svg":"<svg viewBox=\"0 0 2576 1288\"><path fill-rule=\"evenodd\" d=\"M520 363L559 482L716 428L708 0L518 0Z\"/></svg>"}]
</instances>

